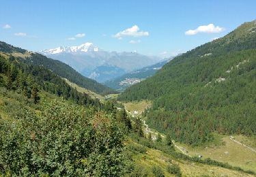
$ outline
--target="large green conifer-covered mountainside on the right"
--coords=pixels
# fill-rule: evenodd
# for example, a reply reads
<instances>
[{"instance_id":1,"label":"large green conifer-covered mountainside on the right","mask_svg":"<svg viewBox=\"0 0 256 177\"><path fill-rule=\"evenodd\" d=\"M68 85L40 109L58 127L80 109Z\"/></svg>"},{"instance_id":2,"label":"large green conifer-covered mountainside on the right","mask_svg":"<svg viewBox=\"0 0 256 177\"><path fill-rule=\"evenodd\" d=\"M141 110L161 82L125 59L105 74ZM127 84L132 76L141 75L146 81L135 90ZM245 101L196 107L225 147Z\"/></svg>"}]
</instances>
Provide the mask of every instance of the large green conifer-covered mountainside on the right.
<instances>
[{"instance_id":1,"label":"large green conifer-covered mountainside on the right","mask_svg":"<svg viewBox=\"0 0 256 177\"><path fill-rule=\"evenodd\" d=\"M256 134L256 21L167 63L119 99L153 100L150 126L200 144L218 133Z\"/></svg>"}]
</instances>

